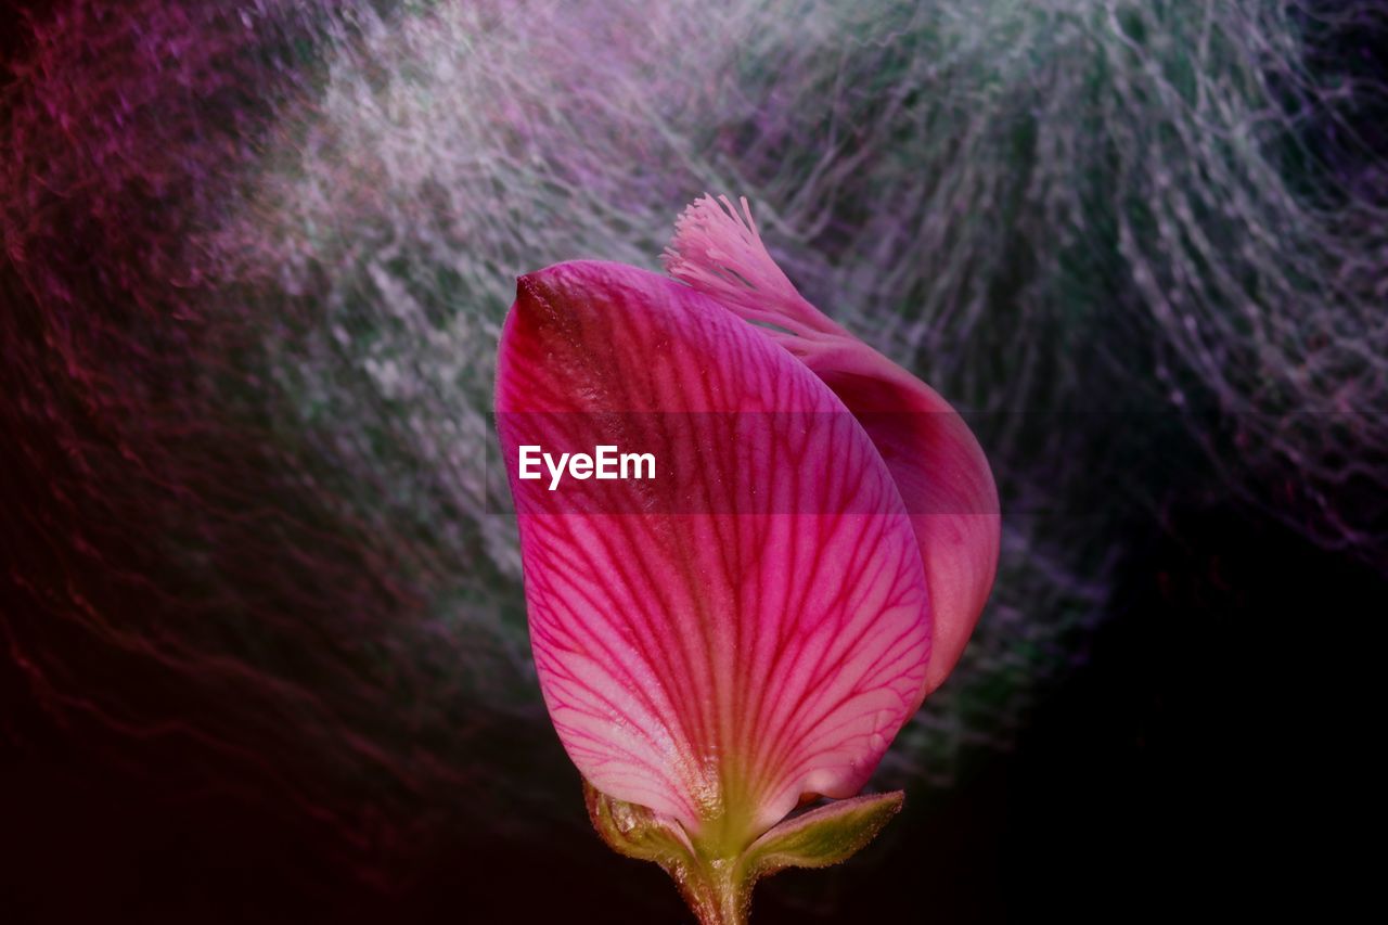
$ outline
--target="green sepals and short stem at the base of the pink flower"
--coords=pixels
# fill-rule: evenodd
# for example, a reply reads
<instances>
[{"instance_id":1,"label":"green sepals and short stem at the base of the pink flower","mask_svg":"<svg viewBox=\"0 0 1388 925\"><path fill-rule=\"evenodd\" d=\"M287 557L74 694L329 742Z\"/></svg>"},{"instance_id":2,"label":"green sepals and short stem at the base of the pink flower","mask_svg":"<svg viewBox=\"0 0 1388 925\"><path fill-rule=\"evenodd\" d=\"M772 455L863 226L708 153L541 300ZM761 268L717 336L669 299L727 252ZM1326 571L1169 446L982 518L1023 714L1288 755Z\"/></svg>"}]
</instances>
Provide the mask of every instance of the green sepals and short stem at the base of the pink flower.
<instances>
[{"instance_id":1,"label":"green sepals and short stem at the base of the pink flower","mask_svg":"<svg viewBox=\"0 0 1388 925\"><path fill-rule=\"evenodd\" d=\"M756 881L788 867L848 860L901 811L905 799L897 790L836 800L772 826L738 857L704 857L679 821L613 800L587 781L583 796L602 840L618 854L665 868L702 925L744 925Z\"/></svg>"}]
</instances>

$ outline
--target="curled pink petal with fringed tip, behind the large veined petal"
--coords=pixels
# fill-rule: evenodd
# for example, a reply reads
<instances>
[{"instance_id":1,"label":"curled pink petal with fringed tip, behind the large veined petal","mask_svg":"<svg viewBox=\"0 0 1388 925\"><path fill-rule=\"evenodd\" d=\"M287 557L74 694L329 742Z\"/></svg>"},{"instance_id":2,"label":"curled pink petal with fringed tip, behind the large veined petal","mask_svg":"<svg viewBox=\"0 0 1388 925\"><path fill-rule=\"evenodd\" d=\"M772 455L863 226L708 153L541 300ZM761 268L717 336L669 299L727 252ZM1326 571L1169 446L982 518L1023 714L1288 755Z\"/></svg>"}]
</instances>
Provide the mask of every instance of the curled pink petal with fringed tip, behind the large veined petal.
<instances>
[{"instance_id":1,"label":"curled pink petal with fringed tip, behind the large veined petal","mask_svg":"<svg viewBox=\"0 0 1388 925\"><path fill-rule=\"evenodd\" d=\"M934 640L923 699L948 676L992 589L1001 517L979 442L934 389L806 301L762 243L747 200L693 203L665 251L672 276L708 293L801 358L858 415L911 512L930 588ZM919 706L919 699L917 699Z\"/></svg>"}]
</instances>

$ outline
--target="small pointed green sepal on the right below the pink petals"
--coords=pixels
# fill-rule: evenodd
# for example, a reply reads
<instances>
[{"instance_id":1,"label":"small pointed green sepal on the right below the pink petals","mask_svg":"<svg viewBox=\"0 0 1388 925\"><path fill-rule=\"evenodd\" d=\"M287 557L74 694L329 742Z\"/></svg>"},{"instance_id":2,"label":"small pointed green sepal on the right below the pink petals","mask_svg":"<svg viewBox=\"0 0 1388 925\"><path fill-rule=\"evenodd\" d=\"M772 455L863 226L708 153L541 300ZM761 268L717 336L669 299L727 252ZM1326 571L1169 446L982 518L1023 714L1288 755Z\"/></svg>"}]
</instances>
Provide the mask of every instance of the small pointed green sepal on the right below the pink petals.
<instances>
[{"instance_id":1,"label":"small pointed green sepal on the right below the pink petals","mask_svg":"<svg viewBox=\"0 0 1388 925\"><path fill-rule=\"evenodd\" d=\"M776 825L743 853L743 875L756 881L787 867L847 861L901 810L905 794L874 793L836 800Z\"/></svg>"}]
</instances>

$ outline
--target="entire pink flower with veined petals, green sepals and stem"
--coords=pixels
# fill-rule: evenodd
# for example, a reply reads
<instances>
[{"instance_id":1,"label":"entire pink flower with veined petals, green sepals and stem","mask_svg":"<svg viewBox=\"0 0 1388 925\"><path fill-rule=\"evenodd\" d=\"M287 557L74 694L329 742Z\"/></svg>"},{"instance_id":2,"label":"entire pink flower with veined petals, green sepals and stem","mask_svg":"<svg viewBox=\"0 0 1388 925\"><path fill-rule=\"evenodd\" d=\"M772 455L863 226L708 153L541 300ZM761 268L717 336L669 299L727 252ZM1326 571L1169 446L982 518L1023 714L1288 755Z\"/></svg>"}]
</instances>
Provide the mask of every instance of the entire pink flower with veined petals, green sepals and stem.
<instances>
[{"instance_id":1,"label":"entire pink flower with veined petals, green sepals and stem","mask_svg":"<svg viewBox=\"0 0 1388 925\"><path fill-rule=\"evenodd\" d=\"M998 556L967 426L805 301L743 210L686 211L675 279L522 276L497 365L545 704L600 833L705 924L899 808L855 794L959 658ZM650 478L598 478L629 451Z\"/></svg>"}]
</instances>

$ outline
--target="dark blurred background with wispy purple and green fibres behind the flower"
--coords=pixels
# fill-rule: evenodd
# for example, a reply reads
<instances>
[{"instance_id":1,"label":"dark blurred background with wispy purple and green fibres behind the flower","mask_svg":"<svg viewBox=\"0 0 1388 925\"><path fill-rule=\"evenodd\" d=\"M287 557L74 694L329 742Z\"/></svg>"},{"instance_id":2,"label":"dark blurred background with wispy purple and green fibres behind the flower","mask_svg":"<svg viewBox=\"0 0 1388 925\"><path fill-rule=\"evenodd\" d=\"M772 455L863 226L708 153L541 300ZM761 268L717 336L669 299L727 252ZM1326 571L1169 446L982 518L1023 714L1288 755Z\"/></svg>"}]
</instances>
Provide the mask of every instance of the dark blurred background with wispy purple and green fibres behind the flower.
<instances>
[{"instance_id":1,"label":"dark blurred background with wispy purple and green fibres behind the flower","mask_svg":"<svg viewBox=\"0 0 1388 925\"><path fill-rule=\"evenodd\" d=\"M677 922L608 851L484 461L515 276L745 194L1004 504L906 810L754 921L1362 878L1388 615L1376 0L19 3L0 919Z\"/></svg>"}]
</instances>

